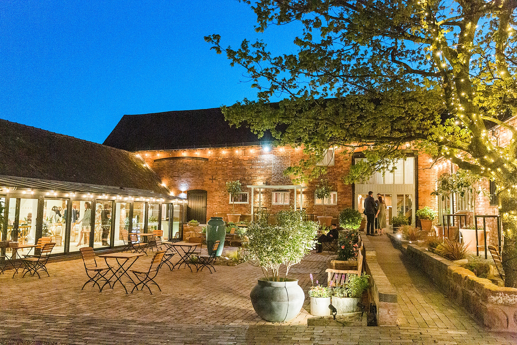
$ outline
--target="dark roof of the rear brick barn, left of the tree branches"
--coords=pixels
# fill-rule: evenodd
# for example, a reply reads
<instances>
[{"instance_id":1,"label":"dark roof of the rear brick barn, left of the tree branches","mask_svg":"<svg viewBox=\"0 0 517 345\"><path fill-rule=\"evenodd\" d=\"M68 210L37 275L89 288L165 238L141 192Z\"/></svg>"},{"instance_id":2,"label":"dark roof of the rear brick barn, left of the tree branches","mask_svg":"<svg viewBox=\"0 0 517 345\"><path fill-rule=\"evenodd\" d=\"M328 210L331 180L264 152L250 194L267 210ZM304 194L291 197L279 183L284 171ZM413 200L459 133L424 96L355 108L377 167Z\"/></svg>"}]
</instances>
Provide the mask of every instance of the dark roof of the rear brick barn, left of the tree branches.
<instances>
[{"instance_id":1,"label":"dark roof of the rear brick barn, left of the tree branches","mask_svg":"<svg viewBox=\"0 0 517 345\"><path fill-rule=\"evenodd\" d=\"M269 133L267 133L269 134ZM258 139L245 126L230 127L220 108L124 115L104 145L128 151L250 145Z\"/></svg>"}]
</instances>

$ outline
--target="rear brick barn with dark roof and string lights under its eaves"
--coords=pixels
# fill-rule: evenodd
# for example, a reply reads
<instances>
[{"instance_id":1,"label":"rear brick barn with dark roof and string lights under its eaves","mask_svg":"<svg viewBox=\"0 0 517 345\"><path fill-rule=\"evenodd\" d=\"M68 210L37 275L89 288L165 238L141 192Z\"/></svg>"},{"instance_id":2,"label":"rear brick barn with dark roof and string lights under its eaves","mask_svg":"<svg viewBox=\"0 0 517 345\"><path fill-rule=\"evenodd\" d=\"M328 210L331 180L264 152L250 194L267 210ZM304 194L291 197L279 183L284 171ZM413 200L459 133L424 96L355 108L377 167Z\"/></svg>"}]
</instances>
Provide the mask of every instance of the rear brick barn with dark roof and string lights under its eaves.
<instances>
[{"instance_id":1,"label":"rear brick barn with dark roof and string lights under its eaves","mask_svg":"<svg viewBox=\"0 0 517 345\"><path fill-rule=\"evenodd\" d=\"M283 170L298 162L301 148L272 147L271 138L259 139L248 128L230 127L219 108L169 111L161 113L125 115L104 145L135 152L162 179L176 196L187 197L186 218L204 222L215 215L226 218L227 213L240 213L249 219L251 188L248 185L269 185L258 193L254 190L254 208L260 204L269 213L294 207L293 185ZM403 212L415 223L419 207L437 208L436 197L430 193L436 184L435 168L430 157L407 151L407 160L396 162L393 174L375 174L363 184L344 184L351 164L361 159L360 152L345 155L340 149L330 148L322 164L334 187L326 205L314 197L318 181L303 185L303 195L297 190L296 205L300 202L307 213L337 217L340 210L354 207L362 210L362 199L369 190L385 196L388 224L391 217ZM239 180L244 185L243 195L235 203L225 192L225 183ZM273 185L275 187L271 188Z\"/></svg>"}]
</instances>

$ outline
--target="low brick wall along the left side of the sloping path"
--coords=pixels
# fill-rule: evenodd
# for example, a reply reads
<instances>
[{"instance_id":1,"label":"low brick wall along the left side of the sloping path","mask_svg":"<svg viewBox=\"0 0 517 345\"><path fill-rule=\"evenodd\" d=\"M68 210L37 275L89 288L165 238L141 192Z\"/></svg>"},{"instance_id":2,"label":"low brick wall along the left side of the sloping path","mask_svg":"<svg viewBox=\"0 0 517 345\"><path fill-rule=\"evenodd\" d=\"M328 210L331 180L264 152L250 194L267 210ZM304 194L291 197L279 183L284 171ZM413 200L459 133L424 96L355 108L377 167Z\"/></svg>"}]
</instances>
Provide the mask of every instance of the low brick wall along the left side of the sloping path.
<instances>
[{"instance_id":1,"label":"low brick wall along the left side of the sloping path","mask_svg":"<svg viewBox=\"0 0 517 345\"><path fill-rule=\"evenodd\" d=\"M368 293L370 300L374 301L377 307L377 325L396 326L398 317L397 290L389 282L383 269L377 263L376 252L368 250L368 239L363 240L363 246L363 268L371 277Z\"/></svg>"}]
</instances>

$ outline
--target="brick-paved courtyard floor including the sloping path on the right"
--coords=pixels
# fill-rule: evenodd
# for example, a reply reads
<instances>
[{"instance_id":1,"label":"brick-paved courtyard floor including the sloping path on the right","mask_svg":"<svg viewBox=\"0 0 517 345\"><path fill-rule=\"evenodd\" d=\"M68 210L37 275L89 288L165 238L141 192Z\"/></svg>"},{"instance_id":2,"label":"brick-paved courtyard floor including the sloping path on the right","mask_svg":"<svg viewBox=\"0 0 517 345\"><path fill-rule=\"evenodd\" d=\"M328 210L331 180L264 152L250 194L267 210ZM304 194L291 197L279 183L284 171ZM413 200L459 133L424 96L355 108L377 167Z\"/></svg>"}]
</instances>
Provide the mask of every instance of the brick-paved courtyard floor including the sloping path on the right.
<instances>
[{"instance_id":1,"label":"brick-paved courtyard floor including the sloping path on the right","mask_svg":"<svg viewBox=\"0 0 517 345\"><path fill-rule=\"evenodd\" d=\"M265 322L249 299L261 269L248 263L216 266L214 274L164 267L157 278L162 291L150 295L126 294L120 285L81 290L84 266L74 260L49 263L51 276L42 279L0 276L0 344L517 344L515 335L476 324L386 236L369 238L368 246L398 291L399 326L307 326L308 297L291 322ZM313 252L291 269L306 296L310 273L326 280L327 255Z\"/></svg>"}]
</instances>

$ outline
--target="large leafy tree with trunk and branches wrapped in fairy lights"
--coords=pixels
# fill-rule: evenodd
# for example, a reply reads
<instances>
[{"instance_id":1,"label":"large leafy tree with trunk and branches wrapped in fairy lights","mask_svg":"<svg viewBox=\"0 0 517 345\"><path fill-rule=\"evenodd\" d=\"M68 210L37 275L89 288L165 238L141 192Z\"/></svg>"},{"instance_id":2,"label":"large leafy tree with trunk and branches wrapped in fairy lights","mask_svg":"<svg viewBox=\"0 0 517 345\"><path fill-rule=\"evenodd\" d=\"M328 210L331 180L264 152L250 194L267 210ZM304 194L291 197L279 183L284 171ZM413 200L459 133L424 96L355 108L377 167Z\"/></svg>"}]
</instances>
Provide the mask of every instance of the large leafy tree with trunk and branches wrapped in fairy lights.
<instances>
[{"instance_id":1,"label":"large leafy tree with trunk and branches wrapped in fairy lights","mask_svg":"<svg viewBox=\"0 0 517 345\"><path fill-rule=\"evenodd\" d=\"M257 101L223 107L226 119L303 146L307 157L287 171L300 179L324 173L315 163L335 146L368 159L346 183L386 170L407 148L495 180L506 284L517 287L517 132L504 122L517 105L517 1L258 0L252 8L258 32L293 21L303 30L297 52L278 56L263 41L233 49L205 37L258 91ZM268 103L280 94L288 98ZM494 124L508 145L490 137Z\"/></svg>"}]
</instances>

